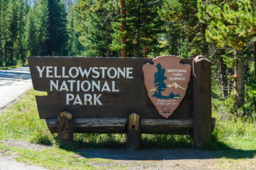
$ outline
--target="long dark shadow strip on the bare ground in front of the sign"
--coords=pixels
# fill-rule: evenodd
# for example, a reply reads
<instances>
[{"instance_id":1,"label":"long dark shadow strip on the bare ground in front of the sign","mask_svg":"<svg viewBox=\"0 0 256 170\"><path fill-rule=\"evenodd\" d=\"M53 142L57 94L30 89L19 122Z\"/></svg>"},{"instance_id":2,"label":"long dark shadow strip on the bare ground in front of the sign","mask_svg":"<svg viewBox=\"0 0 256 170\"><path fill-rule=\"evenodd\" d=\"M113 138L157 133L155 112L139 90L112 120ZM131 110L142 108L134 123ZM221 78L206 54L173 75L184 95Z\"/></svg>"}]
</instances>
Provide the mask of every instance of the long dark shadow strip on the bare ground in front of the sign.
<instances>
[{"instance_id":1,"label":"long dark shadow strip on the bare ground in front of the sign","mask_svg":"<svg viewBox=\"0 0 256 170\"><path fill-rule=\"evenodd\" d=\"M253 159L256 154L256 150L236 150L232 148L220 148L214 152L193 148L142 148L140 151L125 148L84 148L74 150L74 152L86 158L113 160Z\"/></svg>"}]
</instances>

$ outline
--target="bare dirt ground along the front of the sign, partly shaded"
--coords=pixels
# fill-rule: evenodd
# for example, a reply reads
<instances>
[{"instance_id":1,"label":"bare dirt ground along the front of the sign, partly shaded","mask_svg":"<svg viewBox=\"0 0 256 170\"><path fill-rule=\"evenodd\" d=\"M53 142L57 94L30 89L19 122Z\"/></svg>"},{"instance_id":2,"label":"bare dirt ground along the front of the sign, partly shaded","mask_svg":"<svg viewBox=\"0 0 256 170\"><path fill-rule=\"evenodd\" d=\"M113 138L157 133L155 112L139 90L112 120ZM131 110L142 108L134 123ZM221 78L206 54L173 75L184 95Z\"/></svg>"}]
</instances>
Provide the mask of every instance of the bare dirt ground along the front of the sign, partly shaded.
<instances>
[{"instance_id":1,"label":"bare dirt ground along the front of the sign, partly shaded","mask_svg":"<svg viewBox=\"0 0 256 170\"><path fill-rule=\"evenodd\" d=\"M31 144L26 141L1 140L8 146L44 150L51 146ZM214 152L186 149L143 149L132 151L127 149L83 149L77 150L78 157L99 158L104 161L91 162L93 167L119 167L121 169L256 169L256 155L252 159L218 159ZM0 154L1 157L1 154ZM77 157L77 159L79 159ZM3 160L5 160L4 158ZM2 161L3 161L2 160ZM9 161L10 159L6 159ZM12 159L13 161L13 159ZM107 164L106 162L109 163ZM19 162L17 162L20 164ZM15 165L15 164L14 164ZM28 168L28 167L26 167ZM37 167L40 169L40 167Z\"/></svg>"}]
</instances>

